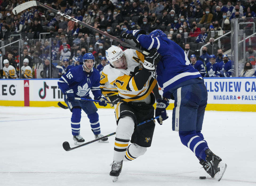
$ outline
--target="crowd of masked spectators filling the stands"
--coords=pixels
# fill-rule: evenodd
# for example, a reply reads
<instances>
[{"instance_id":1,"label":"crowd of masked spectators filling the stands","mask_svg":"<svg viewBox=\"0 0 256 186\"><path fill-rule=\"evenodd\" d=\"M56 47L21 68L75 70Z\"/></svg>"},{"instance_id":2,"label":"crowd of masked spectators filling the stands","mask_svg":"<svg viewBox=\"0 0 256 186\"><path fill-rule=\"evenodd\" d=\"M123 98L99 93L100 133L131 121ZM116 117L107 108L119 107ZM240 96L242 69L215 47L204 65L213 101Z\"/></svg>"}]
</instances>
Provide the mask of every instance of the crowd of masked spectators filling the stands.
<instances>
[{"instance_id":1,"label":"crowd of masked spectators filling the stands","mask_svg":"<svg viewBox=\"0 0 256 186\"><path fill-rule=\"evenodd\" d=\"M197 49L205 43L210 43L203 49L203 55L217 55L219 47L215 39L220 33L230 31L231 19L251 18L253 22L256 17L254 1L39 0L113 36L119 36L127 29L145 29L147 33L161 29L165 31L168 39L187 51L188 57L193 54L190 50L191 43L198 44ZM82 56L86 52L93 53L99 64L101 57L105 56L105 50L112 44L108 37L42 7L31 7L20 15L13 15L11 10L23 2L26 1L0 0L0 40L8 41L11 34L21 34L22 40L25 41L22 42L22 47L18 48L21 52L20 59L14 53L17 53L17 48L6 51L3 56L3 59L10 59L8 56L12 56L10 63L14 64L16 69L19 68L18 63L22 63L25 58L29 59L28 65L32 71L42 63L43 68L46 68L46 60L53 63L68 58L69 64L75 65L75 58L78 57L82 63ZM210 31L214 31L214 36ZM39 40L40 33L44 32L49 33L43 40ZM187 36L184 34L186 32ZM11 37L13 38L17 37ZM115 41L113 44L118 45ZM230 46L223 44L222 50L227 50L228 47ZM206 61L209 62L209 59ZM1 62L0 67L2 66Z\"/></svg>"}]
</instances>

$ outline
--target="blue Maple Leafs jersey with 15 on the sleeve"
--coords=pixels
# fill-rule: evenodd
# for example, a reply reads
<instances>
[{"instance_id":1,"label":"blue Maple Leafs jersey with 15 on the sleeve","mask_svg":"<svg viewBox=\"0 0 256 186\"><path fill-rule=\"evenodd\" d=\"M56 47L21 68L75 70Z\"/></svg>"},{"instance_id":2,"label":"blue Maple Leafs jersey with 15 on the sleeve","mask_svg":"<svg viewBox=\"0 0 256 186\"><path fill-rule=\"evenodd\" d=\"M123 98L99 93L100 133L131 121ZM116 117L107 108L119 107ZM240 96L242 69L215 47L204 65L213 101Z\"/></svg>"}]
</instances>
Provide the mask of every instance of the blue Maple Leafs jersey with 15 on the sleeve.
<instances>
[{"instance_id":1,"label":"blue Maple Leafs jersey with 15 on the sleeve","mask_svg":"<svg viewBox=\"0 0 256 186\"><path fill-rule=\"evenodd\" d=\"M83 65L78 65L59 78L58 86L64 94L67 90L73 89L77 97L86 98L91 90L94 97L98 98L101 96L100 78L99 71L95 68L87 73Z\"/></svg>"}]
</instances>

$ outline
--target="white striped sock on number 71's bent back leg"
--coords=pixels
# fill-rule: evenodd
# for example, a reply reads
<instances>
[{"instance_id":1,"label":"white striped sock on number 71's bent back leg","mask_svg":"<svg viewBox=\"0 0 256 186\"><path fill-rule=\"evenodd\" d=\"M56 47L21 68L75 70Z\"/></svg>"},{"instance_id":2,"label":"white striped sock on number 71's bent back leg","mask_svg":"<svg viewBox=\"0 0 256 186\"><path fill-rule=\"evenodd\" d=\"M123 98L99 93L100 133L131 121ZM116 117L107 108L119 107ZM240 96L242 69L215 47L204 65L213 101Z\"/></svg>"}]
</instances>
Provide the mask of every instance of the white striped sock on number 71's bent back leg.
<instances>
[{"instance_id":1,"label":"white striped sock on number 71's bent back leg","mask_svg":"<svg viewBox=\"0 0 256 186\"><path fill-rule=\"evenodd\" d=\"M141 147L135 143L132 143L129 145L129 147L126 150L124 161L131 161L135 158L138 158L139 156L145 154L147 151L146 147Z\"/></svg>"}]
</instances>

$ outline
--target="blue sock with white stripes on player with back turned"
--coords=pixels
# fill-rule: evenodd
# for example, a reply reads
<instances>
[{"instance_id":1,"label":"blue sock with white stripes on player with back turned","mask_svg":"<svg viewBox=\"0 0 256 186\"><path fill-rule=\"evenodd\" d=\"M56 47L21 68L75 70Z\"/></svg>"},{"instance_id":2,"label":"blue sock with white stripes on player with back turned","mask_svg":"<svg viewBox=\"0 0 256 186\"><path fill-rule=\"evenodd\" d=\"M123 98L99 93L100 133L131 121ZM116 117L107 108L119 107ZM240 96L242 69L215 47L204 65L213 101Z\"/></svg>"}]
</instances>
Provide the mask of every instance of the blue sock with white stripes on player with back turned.
<instances>
[{"instance_id":1,"label":"blue sock with white stripes on player with back turned","mask_svg":"<svg viewBox=\"0 0 256 186\"><path fill-rule=\"evenodd\" d=\"M205 160L205 150L209 149L206 141L203 139L201 132L193 131L179 131L179 137L183 145L187 146L194 154ZM199 158L198 158L199 159Z\"/></svg>"}]
</instances>

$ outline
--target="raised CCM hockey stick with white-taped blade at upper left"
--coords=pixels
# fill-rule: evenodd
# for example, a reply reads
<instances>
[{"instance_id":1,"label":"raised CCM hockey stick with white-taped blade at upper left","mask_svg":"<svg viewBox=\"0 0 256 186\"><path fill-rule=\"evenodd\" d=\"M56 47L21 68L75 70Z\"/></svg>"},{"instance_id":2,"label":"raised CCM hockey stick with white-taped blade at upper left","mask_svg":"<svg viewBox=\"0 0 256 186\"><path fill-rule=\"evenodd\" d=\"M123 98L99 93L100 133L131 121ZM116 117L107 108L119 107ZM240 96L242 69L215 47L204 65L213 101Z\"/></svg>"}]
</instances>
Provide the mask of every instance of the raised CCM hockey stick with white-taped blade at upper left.
<instances>
[{"instance_id":1,"label":"raised CCM hockey stick with white-taped blade at upper left","mask_svg":"<svg viewBox=\"0 0 256 186\"><path fill-rule=\"evenodd\" d=\"M93 31L95 31L95 32L98 32L98 33L100 33L100 34L102 34L102 35L105 35L105 36L107 36L107 37L109 37L109 38L111 38L111 39L113 39L113 40L115 40L115 41L121 43L121 45L122 45L123 47L132 48L132 49L137 50L137 51L139 51L139 52L141 52L141 53L143 53L143 54L145 54L145 55L149 55L149 53L146 52L146 51L144 51L144 50L141 50L141 49L139 49L139 48L137 48L137 47L135 47L135 46L133 46L133 45L130 45L130 44L128 44L128 43L125 43L124 41L122 41L122 40L120 40L120 39L118 39L118 38L116 38L116 37L114 37L114 36L111 36L111 35L109 35L108 33L105 33L105 32L103 32L103 31L101 31L101 30L99 30L99 29L97 29L97 28L94 28L94 27L92 27L92 26L90 26L90 25L88 25L88 24L86 24L86 23L83 23L83 22L81 22L81 21L79 21L79 20L77 20L77 19L75 19L75 18L72 18L71 16L66 15L66 14L64 14L64 13L58 11L58 10L55 10L55 9L53 9L52 7L49 7L49 6L47 6L47 5L43 4L43 3L40 3L40 2L38 2L38 1L28 1L28 2L22 3L22 4L18 5L18 6L16 6L12 11L13 11L13 14L14 14L14 15L17 15L17 14L19 14L20 12L22 12L23 10L29 9L29 8L32 7L32 6L41 6L41 7L43 7L43 8L48 9L48 10L51 10L51 11L54 12L55 14L61 15L61 16L65 17L65 18L67 18L67 19L69 19L69 20L71 20L71 21L74 21L74 22L76 22L76 23L78 23L78 24L80 24L80 25L82 25L82 26L85 26L86 28L89 28L89 29L91 29L91 30L93 30Z\"/></svg>"}]
</instances>

